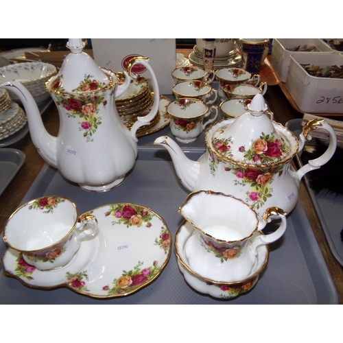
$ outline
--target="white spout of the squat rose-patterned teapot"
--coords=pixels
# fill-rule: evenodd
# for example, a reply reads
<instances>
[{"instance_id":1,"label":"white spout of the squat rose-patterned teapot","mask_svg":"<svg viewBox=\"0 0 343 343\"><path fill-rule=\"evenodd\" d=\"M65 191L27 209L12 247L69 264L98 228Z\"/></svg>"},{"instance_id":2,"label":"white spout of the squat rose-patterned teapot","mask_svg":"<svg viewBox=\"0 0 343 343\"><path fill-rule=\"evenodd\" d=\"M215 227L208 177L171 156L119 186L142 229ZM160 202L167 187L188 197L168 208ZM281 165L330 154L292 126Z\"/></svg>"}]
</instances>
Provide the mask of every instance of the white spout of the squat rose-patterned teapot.
<instances>
[{"instance_id":1,"label":"white spout of the squat rose-patterned teapot","mask_svg":"<svg viewBox=\"0 0 343 343\"><path fill-rule=\"evenodd\" d=\"M161 145L167 149L182 185L189 189L189 191L193 191L200 174L200 163L187 158L179 145L168 136L158 137L155 139L154 144Z\"/></svg>"}]
</instances>

